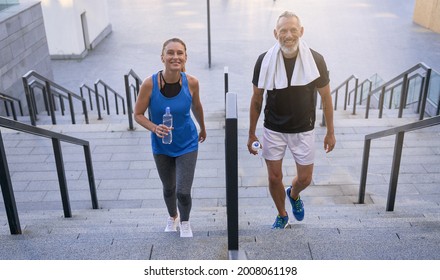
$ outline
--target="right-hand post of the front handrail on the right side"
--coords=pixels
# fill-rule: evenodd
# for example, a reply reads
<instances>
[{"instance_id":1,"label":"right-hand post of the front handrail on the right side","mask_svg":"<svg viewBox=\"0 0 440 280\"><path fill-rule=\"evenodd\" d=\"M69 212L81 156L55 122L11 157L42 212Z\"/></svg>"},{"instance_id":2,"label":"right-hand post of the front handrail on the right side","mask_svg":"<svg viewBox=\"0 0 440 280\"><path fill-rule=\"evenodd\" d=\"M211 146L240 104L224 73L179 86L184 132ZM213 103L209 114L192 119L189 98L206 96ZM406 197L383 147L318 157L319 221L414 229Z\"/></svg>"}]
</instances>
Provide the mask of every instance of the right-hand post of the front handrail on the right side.
<instances>
[{"instance_id":1,"label":"right-hand post of the front handrail on the right side","mask_svg":"<svg viewBox=\"0 0 440 280\"><path fill-rule=\"evenodd\" d=\"M394 210L396 200L397 181L399 179L400 161L402 159L403 138L405 132L398 132L394 143L393 164L391 167L390 186L388 189L387 211Z\"/></svg>"}]
</instances>

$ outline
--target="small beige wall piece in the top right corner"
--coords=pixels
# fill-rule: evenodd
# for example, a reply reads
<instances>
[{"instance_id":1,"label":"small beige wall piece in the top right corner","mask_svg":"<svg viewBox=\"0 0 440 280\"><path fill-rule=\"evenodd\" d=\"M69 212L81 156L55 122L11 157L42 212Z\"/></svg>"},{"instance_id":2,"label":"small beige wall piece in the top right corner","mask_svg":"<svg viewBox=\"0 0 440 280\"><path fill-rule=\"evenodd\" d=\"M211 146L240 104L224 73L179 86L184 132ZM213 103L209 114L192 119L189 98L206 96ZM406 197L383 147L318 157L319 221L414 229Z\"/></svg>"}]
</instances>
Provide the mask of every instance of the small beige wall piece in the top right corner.
<instances>
[{"instance_id":1,"label":"small beige wall piece in the top right corner","mask_svg":"<svg viewBox=\"0 0 440 280\"><path fill-rule=\"evenodd\" d=\"M413 21L440 33L440 0L416 0Z\"/></svg>"}]
</instances>

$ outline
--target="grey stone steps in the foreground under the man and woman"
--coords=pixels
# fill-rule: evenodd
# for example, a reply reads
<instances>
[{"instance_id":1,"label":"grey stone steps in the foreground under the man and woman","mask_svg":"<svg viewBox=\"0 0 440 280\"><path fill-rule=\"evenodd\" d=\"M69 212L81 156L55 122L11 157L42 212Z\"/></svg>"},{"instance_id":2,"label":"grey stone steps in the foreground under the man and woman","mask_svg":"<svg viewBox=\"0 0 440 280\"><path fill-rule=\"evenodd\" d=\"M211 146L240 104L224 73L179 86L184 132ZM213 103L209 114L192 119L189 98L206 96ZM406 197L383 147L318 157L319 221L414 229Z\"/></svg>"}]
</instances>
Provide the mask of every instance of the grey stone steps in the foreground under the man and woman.
<instances>
[{"instance_id":1,"label":"grey stone steps in the foreground under the man and woman","mask_svg":"<svg viewBox=\"0 0 440 280\"><path fill-rule=\"evenodd\" d=\"M321 149L325 128L317 125L314 181L303 193L306 218L296 222L291 217L284 231L270 230L276 211L265 166L247 152L248 122L239 119L240 250L249 259L440 258L440 128L405 136L395 211L386 212L394 138L373 141L366 204L360 205L363 137L417 118L385 114L365 120L361 114L336 112L337 149L328 155ZM80 148L63 145L72 218L63 217L50 141L2 129L23 234L9 234L1 203L0 258L227 259L222 113L206 116L210 129L200 145L194 180L192 239L163 232L167 213L149 134L140 127L128 131L126 116L111 119L40 125L92 145L98 210L91 209ZM292 164L287 157L286 183L295 174Z\"/></svg>"}]
</instances>

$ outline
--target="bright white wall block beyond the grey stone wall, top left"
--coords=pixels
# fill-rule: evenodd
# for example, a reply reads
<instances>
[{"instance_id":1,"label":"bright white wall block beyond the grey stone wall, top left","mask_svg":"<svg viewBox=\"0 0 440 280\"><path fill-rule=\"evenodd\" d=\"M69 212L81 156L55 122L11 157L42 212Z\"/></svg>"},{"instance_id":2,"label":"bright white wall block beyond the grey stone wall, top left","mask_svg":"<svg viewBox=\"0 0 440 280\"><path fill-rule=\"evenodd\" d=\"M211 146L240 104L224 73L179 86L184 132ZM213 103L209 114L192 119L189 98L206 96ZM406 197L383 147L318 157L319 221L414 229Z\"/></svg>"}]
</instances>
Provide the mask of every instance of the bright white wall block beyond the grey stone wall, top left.
<instances>
[{"instance_id":1,"label":"bright white wall block beyond the grey stone wall, top left","mask_svg":"<svg viewBox=\"0 0 440 280\"><path fill-rule=\"evenodd\" d=\"M81 59L111 33L107 0L42 0L41 6L53 59Z\"/></svg>"}]
</instances>

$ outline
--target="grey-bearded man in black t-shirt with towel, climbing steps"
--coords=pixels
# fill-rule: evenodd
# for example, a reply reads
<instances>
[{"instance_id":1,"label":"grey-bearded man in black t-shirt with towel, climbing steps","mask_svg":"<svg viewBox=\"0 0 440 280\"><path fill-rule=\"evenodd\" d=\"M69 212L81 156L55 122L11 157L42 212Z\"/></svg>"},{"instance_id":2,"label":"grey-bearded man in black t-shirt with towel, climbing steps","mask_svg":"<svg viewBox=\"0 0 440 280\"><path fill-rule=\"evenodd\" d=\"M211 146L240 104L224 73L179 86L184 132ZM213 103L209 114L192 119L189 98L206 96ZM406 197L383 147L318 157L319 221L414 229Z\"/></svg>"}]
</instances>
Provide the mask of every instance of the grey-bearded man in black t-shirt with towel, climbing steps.
<instances>
[{"instance_id":1,"label":"grey-bearded man in black t-shirt with towel, climbing steps","mask_svg":"<svg viewBox=\"0 0 440 280\"><path fill-rule=\"evenodd\" d=\"M333 127L333 105L329 77L324 58L308 48L301 40L304 28L292 12L282 13L274 29L277 43L259 56L254 69L253 95L250 104L248 149L258 141L255 134L267 91L264 108L264 133L262 156L266 161L269 191L278 215L272 228L284 229L289 221L285 208L286 194L292 212L298 221L304 218L304 206L300 193L312 182L314 163L314 92L322 99L327 124L324 138L325 151L331 152L336 144ZM296 162L296 176L285 191L282 162L289 148Z\"/></svg>"}]
</instances>

